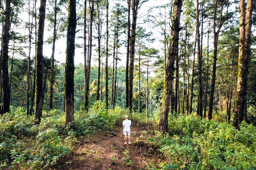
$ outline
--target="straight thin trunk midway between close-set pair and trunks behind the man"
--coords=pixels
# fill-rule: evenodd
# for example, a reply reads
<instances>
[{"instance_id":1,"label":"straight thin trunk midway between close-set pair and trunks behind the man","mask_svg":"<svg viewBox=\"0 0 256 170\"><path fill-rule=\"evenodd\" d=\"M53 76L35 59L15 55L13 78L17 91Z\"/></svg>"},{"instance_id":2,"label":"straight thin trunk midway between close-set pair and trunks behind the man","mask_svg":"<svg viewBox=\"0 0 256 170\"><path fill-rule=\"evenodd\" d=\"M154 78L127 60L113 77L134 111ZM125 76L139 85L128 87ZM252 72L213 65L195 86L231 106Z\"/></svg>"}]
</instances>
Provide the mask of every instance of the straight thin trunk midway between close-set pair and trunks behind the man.
<instances>
[{"instance_id":1,"label":"straight thin trunk midway between close-set pair and trunks behind the man","mask_svg":"<svg viewBox=\"0 0 256 170\"><path fill-rule=\"evenodd\" d=\"M106 109L108 109L108 0L106 2Z\"/></svg>"}]
</instances>

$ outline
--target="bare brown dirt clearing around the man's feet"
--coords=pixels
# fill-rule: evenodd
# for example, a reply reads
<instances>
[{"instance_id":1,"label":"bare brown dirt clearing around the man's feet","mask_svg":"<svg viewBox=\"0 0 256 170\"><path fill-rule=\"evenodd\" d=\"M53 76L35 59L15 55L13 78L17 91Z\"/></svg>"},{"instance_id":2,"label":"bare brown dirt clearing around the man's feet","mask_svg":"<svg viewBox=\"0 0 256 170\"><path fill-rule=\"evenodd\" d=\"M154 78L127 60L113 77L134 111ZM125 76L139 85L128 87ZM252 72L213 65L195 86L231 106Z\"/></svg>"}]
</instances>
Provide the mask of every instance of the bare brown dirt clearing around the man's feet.
<instances>
[{"instance_id":1,"label":"bare brown dirt clearing around the man's feet","mask_svg":"<svg viewBox=\"0 0 256 170\"><path fill-rule=\"evenodd\" d=\"M73 151L51 167L54 170L145 170L150 163L159 163L157 151L141 142L139 132L144 128L131 127L131 143L124 144L122 128L107 134L95 134L78 139ZM146 130L147 131L147 130ZM123 153L129 151L126 154ZM123 157L129 155L128 161ZM130 164L129 164L130 162ZM128 165L127 165L128 164Z\"/></svg>"}]
</instances>

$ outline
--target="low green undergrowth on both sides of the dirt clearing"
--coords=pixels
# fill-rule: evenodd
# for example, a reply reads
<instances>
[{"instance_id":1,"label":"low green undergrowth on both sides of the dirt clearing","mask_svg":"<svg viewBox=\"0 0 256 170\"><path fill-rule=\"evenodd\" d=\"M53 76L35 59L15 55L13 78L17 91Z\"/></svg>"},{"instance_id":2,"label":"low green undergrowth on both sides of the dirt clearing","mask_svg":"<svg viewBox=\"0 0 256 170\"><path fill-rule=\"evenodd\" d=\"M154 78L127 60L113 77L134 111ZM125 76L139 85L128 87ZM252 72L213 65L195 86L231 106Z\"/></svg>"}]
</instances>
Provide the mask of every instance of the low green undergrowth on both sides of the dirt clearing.
<instances>
[{"instance_id":1,"label":"low green undergrowth on both sides of the dirt clearing","mask_svg":"<svg viewBox=\"0 0 256 170\"><path fill-rule=\"evenodd\" d=\"M33 124L23 108L11 108L0 117L0 168L47 169L71 152L77 138L107 133L120 126L129 110L106 110L97 103L88 113L76 112L76 130L67 130L65 115L58 110L44 112L40 125ZM254 110L255 113L255 110ZM134 126L146 124L144 116L135 116ZM152 115L157 123L159 115ZM148 170L254 170L256 167L256 128L246 122L238 131L227 123L200 119L194 115L169 117L169 132L142 131L140 140L162 155L159 164L149 163Z\"/></svg>"}]
</instances>

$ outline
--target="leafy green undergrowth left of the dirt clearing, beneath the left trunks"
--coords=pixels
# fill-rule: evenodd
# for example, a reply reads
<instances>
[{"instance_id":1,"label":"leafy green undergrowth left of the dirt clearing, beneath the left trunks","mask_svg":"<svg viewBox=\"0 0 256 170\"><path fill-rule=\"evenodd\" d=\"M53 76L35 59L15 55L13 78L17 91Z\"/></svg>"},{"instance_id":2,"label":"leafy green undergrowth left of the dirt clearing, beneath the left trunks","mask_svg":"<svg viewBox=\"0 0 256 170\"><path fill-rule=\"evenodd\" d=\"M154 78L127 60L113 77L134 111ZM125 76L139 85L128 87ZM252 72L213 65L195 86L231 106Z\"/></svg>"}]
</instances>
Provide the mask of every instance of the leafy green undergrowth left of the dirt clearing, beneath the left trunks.
<instances>
[{"instance_id":1,"label":"leafy green undergrowth left of the dirt clearing, beneath the left trunks","mask_svg":"<svg viewBox=\"0 0 256 170\"><path fill-rule=\"evenodd\" d=\"M8 162L10 169L46 168L71 151L74 133L61 135L65 130L64 114L57 110L43 113L40 125L34 125L34 117L26 114L23 108L11 108L10 113L0 117L2 168Z\"/></svg>"}]
</instances>

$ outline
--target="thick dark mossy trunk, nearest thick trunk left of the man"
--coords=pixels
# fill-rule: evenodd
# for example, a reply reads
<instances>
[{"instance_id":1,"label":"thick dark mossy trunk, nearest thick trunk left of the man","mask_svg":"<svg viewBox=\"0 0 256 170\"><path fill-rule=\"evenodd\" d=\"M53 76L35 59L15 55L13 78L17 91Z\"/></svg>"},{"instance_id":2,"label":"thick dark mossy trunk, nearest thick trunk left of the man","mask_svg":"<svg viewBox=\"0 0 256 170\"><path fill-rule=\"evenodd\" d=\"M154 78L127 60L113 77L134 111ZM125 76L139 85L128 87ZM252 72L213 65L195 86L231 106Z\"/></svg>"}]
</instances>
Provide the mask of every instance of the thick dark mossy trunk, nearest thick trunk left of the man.
<instances>
[{"instance_id":1,"label":"thick dark mossy trunk, nearest thick trunk left of the man","mask_svg":"<svg viewBox=\"0 0 256 170\"><path fill-rule=\"evenodd\" d=\"M65 125L74 129L74 55L76 35L76 0L68 0L67 48L65 64Z\"/></svg>"}]
</instances>

